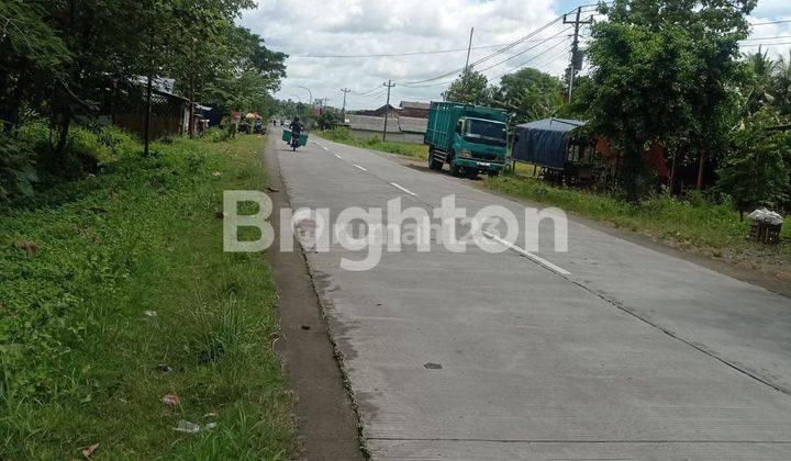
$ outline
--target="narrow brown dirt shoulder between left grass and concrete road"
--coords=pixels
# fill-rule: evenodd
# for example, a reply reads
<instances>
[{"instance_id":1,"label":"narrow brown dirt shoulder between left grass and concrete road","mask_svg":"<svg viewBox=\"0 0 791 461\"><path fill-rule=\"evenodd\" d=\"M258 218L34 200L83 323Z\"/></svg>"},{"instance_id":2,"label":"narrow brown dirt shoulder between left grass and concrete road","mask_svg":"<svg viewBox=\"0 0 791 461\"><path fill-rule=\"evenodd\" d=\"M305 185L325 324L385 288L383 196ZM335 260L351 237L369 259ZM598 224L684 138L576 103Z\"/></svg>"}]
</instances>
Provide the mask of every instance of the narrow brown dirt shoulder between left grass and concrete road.
<instances>
[{"instance_id":1,"label":"narrow brown dirt shoulder between left grass and concrete road","mask_svg":"<svg viewBox=\"0 0 791 461\"><path fill-rule=\"evenodd\" d=\"M275 139L275 137L270 137ZM279 210L289 207L280 176L277 142L265 149L268 184L272 188L271 222L279 222ZM315 293L302 248L294 239L294 251L279 251L279 228L269 251L278 290L282 337L277 342L289 382L297 394L296 413L303 459L361 460L358 419L345 381L322 306Z\"/></svg>"}]
</instances>

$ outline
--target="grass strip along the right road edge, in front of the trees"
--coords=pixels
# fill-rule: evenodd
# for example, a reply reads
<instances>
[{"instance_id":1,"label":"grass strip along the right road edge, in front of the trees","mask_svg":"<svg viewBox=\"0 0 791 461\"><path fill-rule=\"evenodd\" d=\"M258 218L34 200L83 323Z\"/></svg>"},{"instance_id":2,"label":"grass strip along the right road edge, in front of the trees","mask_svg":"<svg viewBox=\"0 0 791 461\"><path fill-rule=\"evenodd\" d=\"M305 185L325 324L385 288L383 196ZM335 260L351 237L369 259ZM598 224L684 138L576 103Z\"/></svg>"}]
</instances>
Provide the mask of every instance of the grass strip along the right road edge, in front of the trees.
<instances>
[{"instance_id":1,"label":"grass strip along the right road edge, in front of the trees","mask_svg":"<svg viewBox=\"0 0 791 461\"><path fill-rule=\"evenodd\" d=\"M645 233L683 249L702 249L710 256L721 257L724 249L771 248L791 257L791 226L783 226L783 241L777 247L758 246L746 239L749 222L739 221L729 203L715 204L693 194L688 200L662 195L635 204L609 194L553 185L533 178L532 167L519 164L517 167L516 175L488 178L487 185L509 195L610 223L616 228Z\"/></svg>"}]
</instances>

